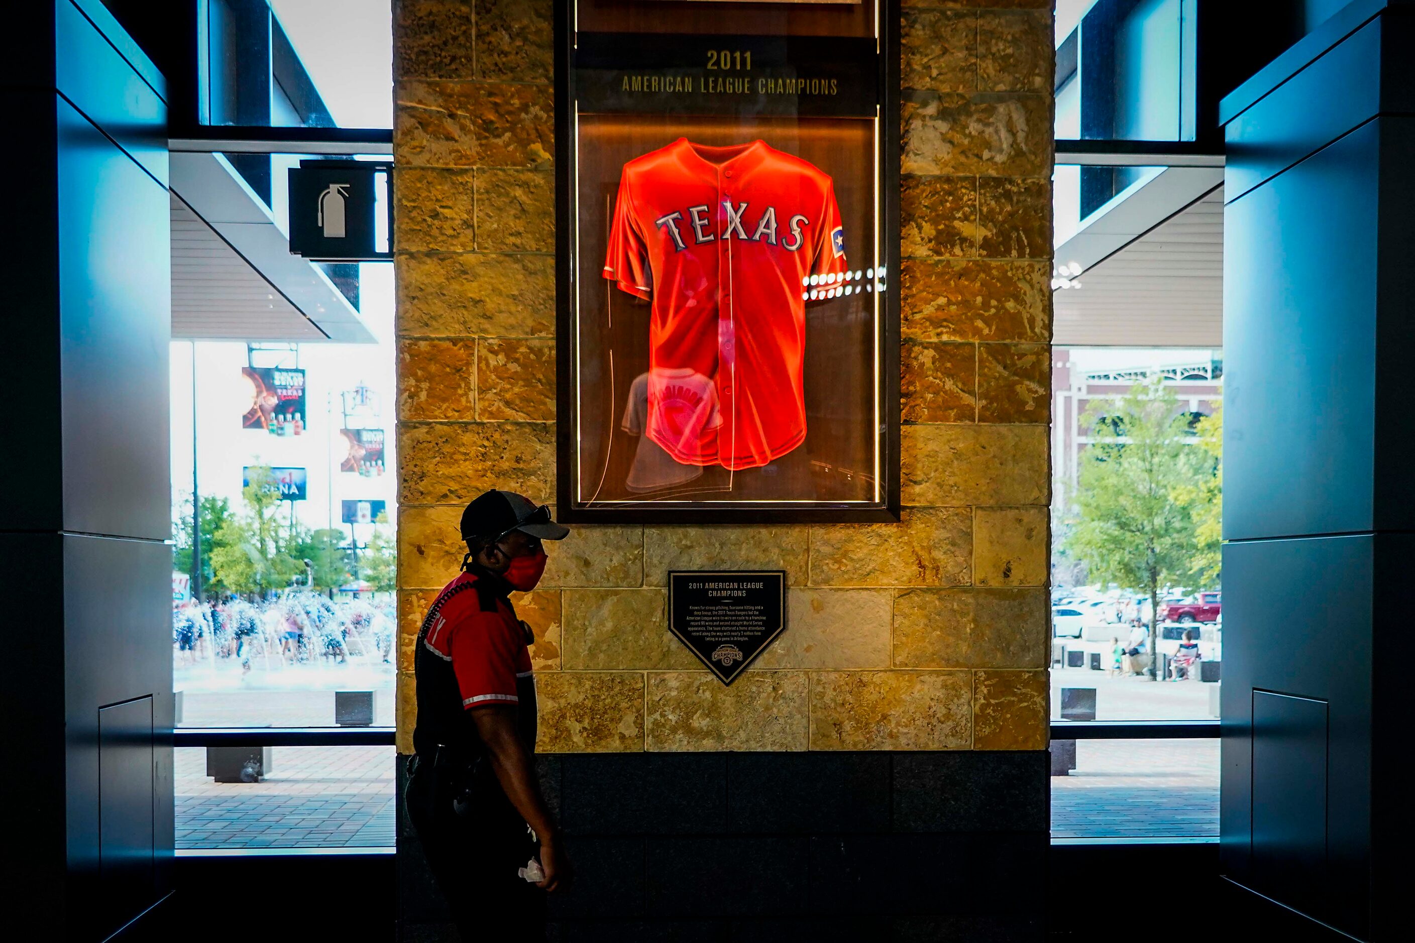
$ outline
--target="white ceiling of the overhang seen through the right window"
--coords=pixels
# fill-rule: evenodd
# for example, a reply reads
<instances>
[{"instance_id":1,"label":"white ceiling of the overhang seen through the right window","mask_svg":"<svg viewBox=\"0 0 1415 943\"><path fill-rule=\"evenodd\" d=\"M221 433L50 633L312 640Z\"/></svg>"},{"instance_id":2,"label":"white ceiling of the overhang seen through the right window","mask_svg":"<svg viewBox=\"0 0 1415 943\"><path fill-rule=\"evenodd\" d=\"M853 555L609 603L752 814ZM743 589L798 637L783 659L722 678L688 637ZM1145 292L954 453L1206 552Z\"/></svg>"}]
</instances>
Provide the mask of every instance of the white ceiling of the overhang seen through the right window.
<instances>
[{"instance_id":1,"label":"white ceiling of the overhang seen through the right window","mask_svg":"<svg viewBox=\"0 0 1415 943\"><path fill-rule=\"evenodd\" d=\"M1224 191L1210 192L1058 288L1058 346L1220 348Z\"/></svg>"}]
</instances>

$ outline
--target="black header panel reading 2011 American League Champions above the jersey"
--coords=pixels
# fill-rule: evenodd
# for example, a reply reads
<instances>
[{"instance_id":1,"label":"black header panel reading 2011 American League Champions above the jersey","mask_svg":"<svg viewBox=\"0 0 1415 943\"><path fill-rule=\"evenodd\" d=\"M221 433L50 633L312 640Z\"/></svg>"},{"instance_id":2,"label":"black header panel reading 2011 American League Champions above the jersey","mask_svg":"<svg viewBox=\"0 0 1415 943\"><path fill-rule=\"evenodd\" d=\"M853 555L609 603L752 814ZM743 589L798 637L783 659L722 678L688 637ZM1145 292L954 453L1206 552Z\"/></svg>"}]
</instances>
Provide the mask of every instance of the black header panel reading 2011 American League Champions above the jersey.
<instances>
[{"instance_id":1,"label":"black header panel reading 2011 American League Champions above the jersey","mask_svg":"<svg viewBox=\"0 0 1415 943\"><path fill-rule=\"evenodd\" d=\"M879 54L850 37L580 33L580 113L874 117Z\"/></svg>"}]
</instances>

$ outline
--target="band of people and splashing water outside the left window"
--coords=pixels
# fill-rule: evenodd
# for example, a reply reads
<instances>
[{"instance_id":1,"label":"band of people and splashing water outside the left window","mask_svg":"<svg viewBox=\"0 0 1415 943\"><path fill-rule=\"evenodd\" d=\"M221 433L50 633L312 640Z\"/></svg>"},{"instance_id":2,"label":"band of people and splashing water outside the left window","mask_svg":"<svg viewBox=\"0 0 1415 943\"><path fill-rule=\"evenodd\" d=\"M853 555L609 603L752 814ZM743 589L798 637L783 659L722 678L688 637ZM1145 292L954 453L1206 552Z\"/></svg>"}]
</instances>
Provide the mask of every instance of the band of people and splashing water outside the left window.
<instances>
[{"instance_id":1,"label":"band of people and splashing water outside the left window","mask_svg":"<svg viewBox=\"0 0 1415 943\"><path fill-rule=\"evenodd\" d=\"M225 660L249 672L351 657L388 664L396 635L392 599L330 599L291 590L260 602L228 598L173 609L177 667Z\"/></svg>"}]
</instances>

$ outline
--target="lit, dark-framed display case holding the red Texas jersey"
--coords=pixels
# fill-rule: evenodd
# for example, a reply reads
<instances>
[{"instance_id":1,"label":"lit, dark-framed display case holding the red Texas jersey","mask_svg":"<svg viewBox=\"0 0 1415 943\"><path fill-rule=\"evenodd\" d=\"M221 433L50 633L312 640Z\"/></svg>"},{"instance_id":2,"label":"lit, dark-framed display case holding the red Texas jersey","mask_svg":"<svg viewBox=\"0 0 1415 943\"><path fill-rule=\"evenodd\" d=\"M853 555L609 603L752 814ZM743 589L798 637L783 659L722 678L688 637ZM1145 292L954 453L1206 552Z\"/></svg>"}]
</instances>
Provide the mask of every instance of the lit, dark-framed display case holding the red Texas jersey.
<instances>
[{"instance_id":1,"label":"lit, dark-framed display case holding the red Texas jersey","mask_svg":"<svg viewBox=\"0 0 1415 943\"><path fill-rule=\"evenodd\" d=\"M558 8L562 519L899 519L897 24Z\"/></svg>"}]
</instances>

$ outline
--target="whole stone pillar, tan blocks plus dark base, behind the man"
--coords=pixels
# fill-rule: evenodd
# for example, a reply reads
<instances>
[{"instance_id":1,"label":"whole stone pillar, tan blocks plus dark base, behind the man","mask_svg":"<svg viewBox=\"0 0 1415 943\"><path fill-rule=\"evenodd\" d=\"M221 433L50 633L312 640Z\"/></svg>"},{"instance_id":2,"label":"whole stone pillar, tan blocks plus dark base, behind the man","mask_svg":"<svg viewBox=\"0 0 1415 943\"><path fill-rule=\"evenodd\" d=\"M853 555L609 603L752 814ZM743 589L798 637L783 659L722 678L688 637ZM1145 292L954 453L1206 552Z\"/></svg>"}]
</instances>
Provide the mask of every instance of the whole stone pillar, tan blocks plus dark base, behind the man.
<instances>
[{"instance_id":1,"label":"whole stone pillar, tan blocks plus dark base, behind the man","mask_svg":"<svg viewBox=\"0 0 1415 943\"><path fill-rule=\"evenodd\" d=\"M1040 932L1051 10L959 6L903 13L903 520L576 527L516 601L584 872L560 920ZM461 506L553 499L550 11L395 4L402 752ZM668 571L710 567L791 585L787 631L732 687L665 623ZM894 874L918 855L947 874ZM405 922L436 919L403 894Z\"/></svg>"}]
</instances>

